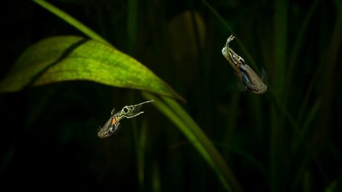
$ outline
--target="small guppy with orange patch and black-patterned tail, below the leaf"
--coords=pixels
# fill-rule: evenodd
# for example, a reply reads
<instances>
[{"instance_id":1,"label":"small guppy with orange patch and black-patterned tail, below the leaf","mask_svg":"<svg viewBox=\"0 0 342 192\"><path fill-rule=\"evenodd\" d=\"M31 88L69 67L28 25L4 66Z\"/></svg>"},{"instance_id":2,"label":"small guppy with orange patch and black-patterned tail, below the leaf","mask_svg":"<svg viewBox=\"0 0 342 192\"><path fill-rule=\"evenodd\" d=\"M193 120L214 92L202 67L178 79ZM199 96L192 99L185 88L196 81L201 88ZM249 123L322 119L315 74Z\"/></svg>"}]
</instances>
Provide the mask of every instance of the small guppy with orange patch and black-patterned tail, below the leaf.
<instances>
[{"instance_id":1,"label":"small guppy with orange patch and black-patterned tail, below the leaf","mask_svg":"<svg viewBox=\"0 0 342 192\"><path fill-rule=\"evenodd\" d=\"M99 131L97 133L97 136L99 138L106 138L111 136L113 133L115 133L119 129L120 122L123 118L132 118L135 116L138 116L139 114L144 113L144 111L140 111L141 107L145 103L152 102L154 100L145 101L142 103L139 103L137 105L129 105L125 106L121 111L115 112L115 108L111 110L110 118L107 120L106 123L104 123L103 127L99 127Z\"/></svg>"}]
</instances>

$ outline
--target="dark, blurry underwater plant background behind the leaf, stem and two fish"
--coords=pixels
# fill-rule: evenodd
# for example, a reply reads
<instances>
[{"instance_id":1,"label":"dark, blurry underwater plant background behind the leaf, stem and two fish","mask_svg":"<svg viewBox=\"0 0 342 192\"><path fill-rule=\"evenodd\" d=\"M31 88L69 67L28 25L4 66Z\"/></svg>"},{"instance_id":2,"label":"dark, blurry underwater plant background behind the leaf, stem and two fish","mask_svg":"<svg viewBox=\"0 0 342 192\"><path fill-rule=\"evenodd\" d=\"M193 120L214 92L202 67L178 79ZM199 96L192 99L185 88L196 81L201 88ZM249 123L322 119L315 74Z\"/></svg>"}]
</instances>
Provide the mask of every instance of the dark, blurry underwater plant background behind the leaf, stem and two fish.
<instances>
[{"instance_id":1,"label":"dark, blurry underwater plant background behind the leaf, stem and two fish","mask_svg":"<svg viewBox=\"0 0 342 192\"><path fill-rule=\"evenodd\" d=\"M314 7L310 1L208 1L258 70L268 72L274 94L263 95L237 89L233 69L221 54L231 32L202 1L139 1L136 11L128 1L49 2L182 95L187 100L182 106L244 190L342 190L341 1L314 1ZM29 45L54 35L84 36L34 2L1 4L1 79ZM137 17L129 20L130 14ZM251 63L237 40L230 46ZM139 91L86 81L1 93L0 186L223 191L202 156L152 105L144 105L145 113L134 120L124 120L115 135L97 137L113 106L143 100Z\"/></svg>"}]
</instances>

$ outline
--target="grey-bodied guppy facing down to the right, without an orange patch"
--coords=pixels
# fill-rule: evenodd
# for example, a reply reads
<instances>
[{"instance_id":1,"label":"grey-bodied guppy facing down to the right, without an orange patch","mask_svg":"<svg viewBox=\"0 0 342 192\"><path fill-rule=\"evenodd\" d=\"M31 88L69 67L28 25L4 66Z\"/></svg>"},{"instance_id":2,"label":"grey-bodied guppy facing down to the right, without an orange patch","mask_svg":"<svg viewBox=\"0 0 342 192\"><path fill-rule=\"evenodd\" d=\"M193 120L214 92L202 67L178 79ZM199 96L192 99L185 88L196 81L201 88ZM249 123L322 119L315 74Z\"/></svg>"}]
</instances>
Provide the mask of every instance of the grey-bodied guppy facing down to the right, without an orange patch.
<instances>
[{"instance_id":1,"label":"grey-bodied guppy facing down to the right, without an orange patch","mask_svg":"<svg viewBox=\"0 0 342 192\"><path fill-rule=\"evenodd\" d=\"M267 86L263 80L266 79L267 73L262 69L261 78L245 63L245 60L236 54L233 49L229 47L235 37L231 35L222 49L223 56L229 61L230 65L235 70L235 74L242 82L241 86L238 86L240 90L249 90L253 93L262 94L267 91Z\"/></svg>"}]
</instances>

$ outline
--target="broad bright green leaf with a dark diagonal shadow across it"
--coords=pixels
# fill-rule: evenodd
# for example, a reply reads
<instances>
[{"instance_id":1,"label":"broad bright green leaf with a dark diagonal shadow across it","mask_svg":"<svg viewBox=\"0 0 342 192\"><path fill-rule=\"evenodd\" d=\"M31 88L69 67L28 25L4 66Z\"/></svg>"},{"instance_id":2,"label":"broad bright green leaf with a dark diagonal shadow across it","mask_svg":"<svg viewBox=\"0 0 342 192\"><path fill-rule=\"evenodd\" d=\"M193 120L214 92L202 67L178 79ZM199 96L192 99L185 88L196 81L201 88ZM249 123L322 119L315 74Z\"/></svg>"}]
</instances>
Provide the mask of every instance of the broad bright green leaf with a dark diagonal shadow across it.
<instances>
[{"instance_id":1,"label":"broad bright green leaf with a dark diagonal shadow across it","mask_svg":"<svg viewBox=\"0 0 342 192\"><path fill-rule=\"evenodd\" d=\"M110 45L77 36L46 38L27 48L0 82L0 92L72 80L95 81L182 99L136 59Z\"/></svg>"}]
</instances>

